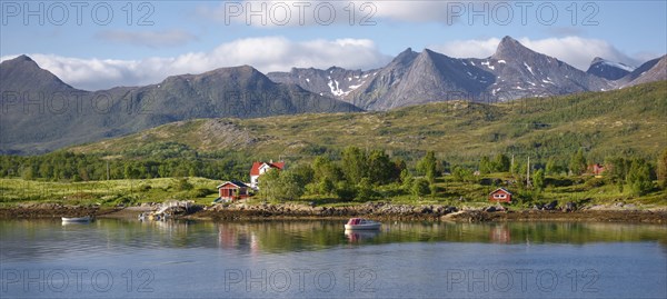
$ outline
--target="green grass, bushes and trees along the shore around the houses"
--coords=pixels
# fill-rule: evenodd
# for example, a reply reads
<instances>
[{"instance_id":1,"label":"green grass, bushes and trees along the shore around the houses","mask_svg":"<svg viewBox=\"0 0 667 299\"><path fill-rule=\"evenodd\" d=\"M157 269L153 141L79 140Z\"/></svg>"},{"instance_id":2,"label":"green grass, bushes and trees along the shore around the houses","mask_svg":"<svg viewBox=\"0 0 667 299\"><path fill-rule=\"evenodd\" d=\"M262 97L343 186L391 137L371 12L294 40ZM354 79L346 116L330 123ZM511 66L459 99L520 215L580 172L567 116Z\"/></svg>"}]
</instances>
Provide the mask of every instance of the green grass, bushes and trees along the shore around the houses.
<instances>
[{"instance_id":1,"label":"green grass, bushes and trees along the shore around the houses","mask_svg":"<svg viewBox=\"0 0 667 299\"><path fill-rule=\"evenodd\" d=\"M195 207L170 212L183 219L667 222L667 150L655 165L640 158L608 158L604 166L591 165L578 150L568 165L522 163L498 153L482 157L474 169L451 166L432 151L409 167L382 150L348 147L336 160L322 155L312 162L269 170L249 198L240 199L237 192L230 196L237 199L233 202L216 205L216 186L221 181L207 178L0 178L0 218L136 218L178 201ZM511 200L489 200L496 199L498 190L510 192Z\"/></svg>"}]
</instances>

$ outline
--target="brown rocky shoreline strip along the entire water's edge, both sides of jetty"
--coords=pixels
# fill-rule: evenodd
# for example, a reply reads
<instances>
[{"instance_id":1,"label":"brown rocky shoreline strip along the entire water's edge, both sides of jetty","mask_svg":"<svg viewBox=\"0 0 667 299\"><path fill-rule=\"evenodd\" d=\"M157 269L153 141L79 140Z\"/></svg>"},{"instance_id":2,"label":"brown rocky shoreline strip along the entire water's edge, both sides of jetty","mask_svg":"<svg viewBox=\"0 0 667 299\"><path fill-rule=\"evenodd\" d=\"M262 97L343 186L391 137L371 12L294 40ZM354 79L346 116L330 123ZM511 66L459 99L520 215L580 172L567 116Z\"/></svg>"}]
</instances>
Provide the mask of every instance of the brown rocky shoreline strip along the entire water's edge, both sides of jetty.
<instances>
[{"instance_id":1,"label":"brown rocky shoreline strip along the entire water's edge, both sides of jetty","mask_svg":"<svg viewBox=\"0 0 667 299\"><path fill-rule=\"evenodd\" d=\"M80 217L86 215L98 218L137 218L139 213L156 210L156 205L127 208L100 208L63 206L59 203L20 205L0 208L0 219L32 219ZM313 207L298 203L280 205L216 205L198 206L191 213L175 215L176 219L190 220L260 220L260 219L347 219L365 217L376 220L402 221L614 221L667 223L667 209L640 209L635 206L594 206L583 209L571 207L526 210L451 207L441 205L394 205L368 202L348 207Z\"/></svg>"}]
</instances>

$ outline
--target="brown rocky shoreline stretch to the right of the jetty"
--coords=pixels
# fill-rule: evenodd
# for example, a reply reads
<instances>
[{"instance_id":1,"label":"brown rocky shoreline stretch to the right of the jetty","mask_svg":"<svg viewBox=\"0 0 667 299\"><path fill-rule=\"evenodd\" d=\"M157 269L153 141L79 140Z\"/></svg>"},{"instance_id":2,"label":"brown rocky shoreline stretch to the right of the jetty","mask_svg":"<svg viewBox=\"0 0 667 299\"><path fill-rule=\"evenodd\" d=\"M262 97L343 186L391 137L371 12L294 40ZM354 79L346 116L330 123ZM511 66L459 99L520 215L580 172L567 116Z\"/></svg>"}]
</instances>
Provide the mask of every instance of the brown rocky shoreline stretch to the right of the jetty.
<instances>
[{"instance_id":1,"label":"brown rocky shoreline stretch to the right of the jetty","mask_svg":"<svg viewBox=\"0 0 667 299\"><path fill-rule=\"evenodd\" d=\"M451 207L441 205L392 205L369 202L349 207L310 207L306 205L230 205L207 207L201 211L186 216L187 219L210 220L256 220L256 219L347 219L365 217L376 220L402 221L615 221L667 223L667 210L640 210L636 207L595 206L576 210L570 206L563 208L534 208L527 210L507 210L494 206L485 208Z\"/></svg>"}]
</instances>

